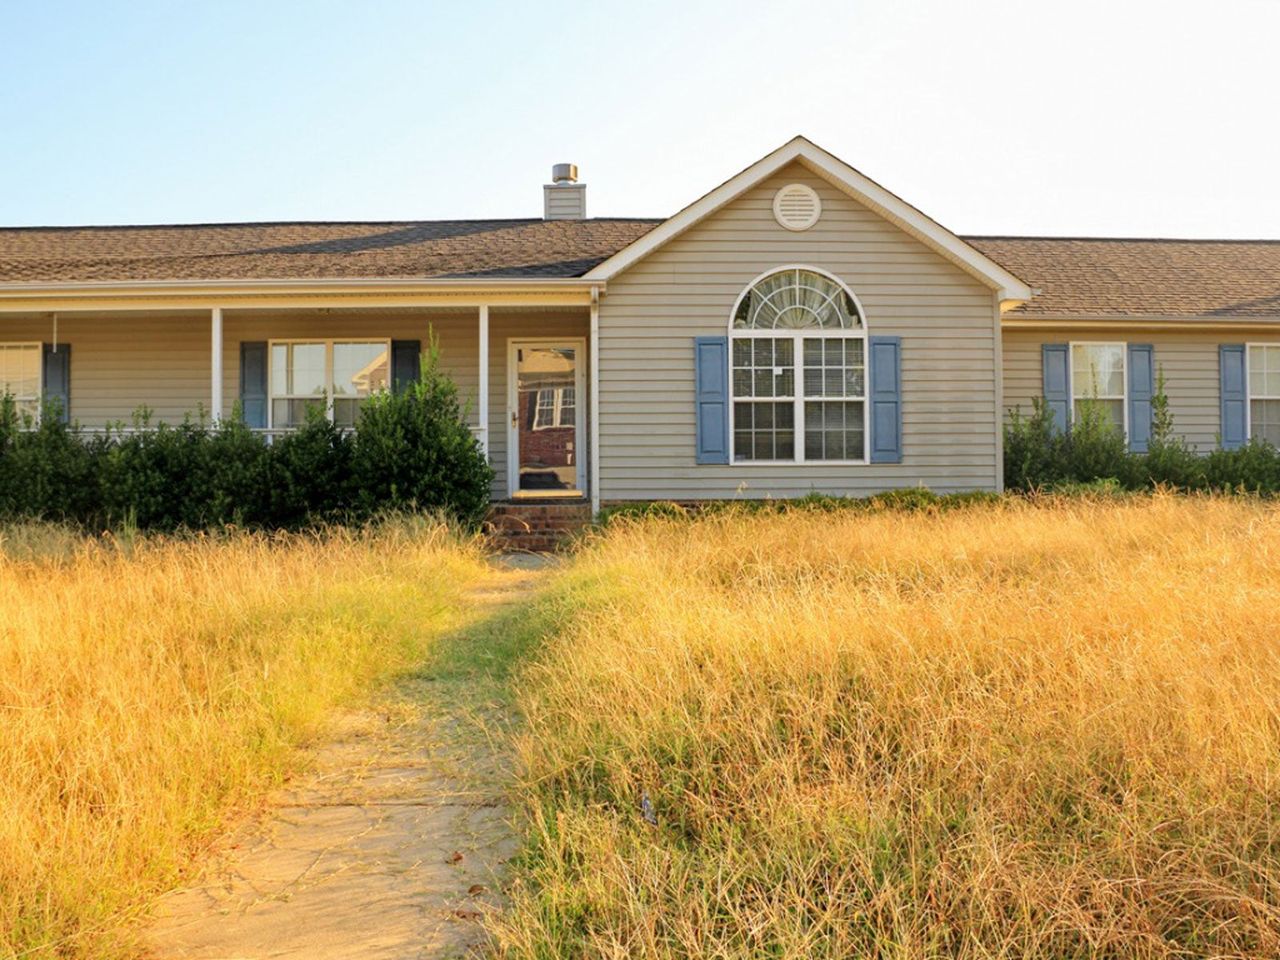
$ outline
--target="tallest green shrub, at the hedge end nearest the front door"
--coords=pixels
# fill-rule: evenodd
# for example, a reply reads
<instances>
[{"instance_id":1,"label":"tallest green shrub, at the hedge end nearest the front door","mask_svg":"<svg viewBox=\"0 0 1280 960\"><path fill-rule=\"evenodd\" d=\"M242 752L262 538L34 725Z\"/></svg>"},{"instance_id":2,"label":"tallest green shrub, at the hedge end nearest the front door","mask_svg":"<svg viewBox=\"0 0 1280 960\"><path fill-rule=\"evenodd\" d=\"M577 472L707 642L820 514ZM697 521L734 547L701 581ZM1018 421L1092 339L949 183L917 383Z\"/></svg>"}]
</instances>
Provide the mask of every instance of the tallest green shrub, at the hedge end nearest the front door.
<instances>
[{"instance_id":1,"label":"tallest green shrub, at the hedge end nearest the front door","mask_svg":"<svg viewBox=\"0 0 1280 960\"><path fill-rule=\"evenodd\" d=\"M421 379L371 397L351 451L356 504L443 511L479 522L489 507L493 468L466 424L458 388L440 372L439 348L422 357Z\"/></svg>"}]
</instances>

